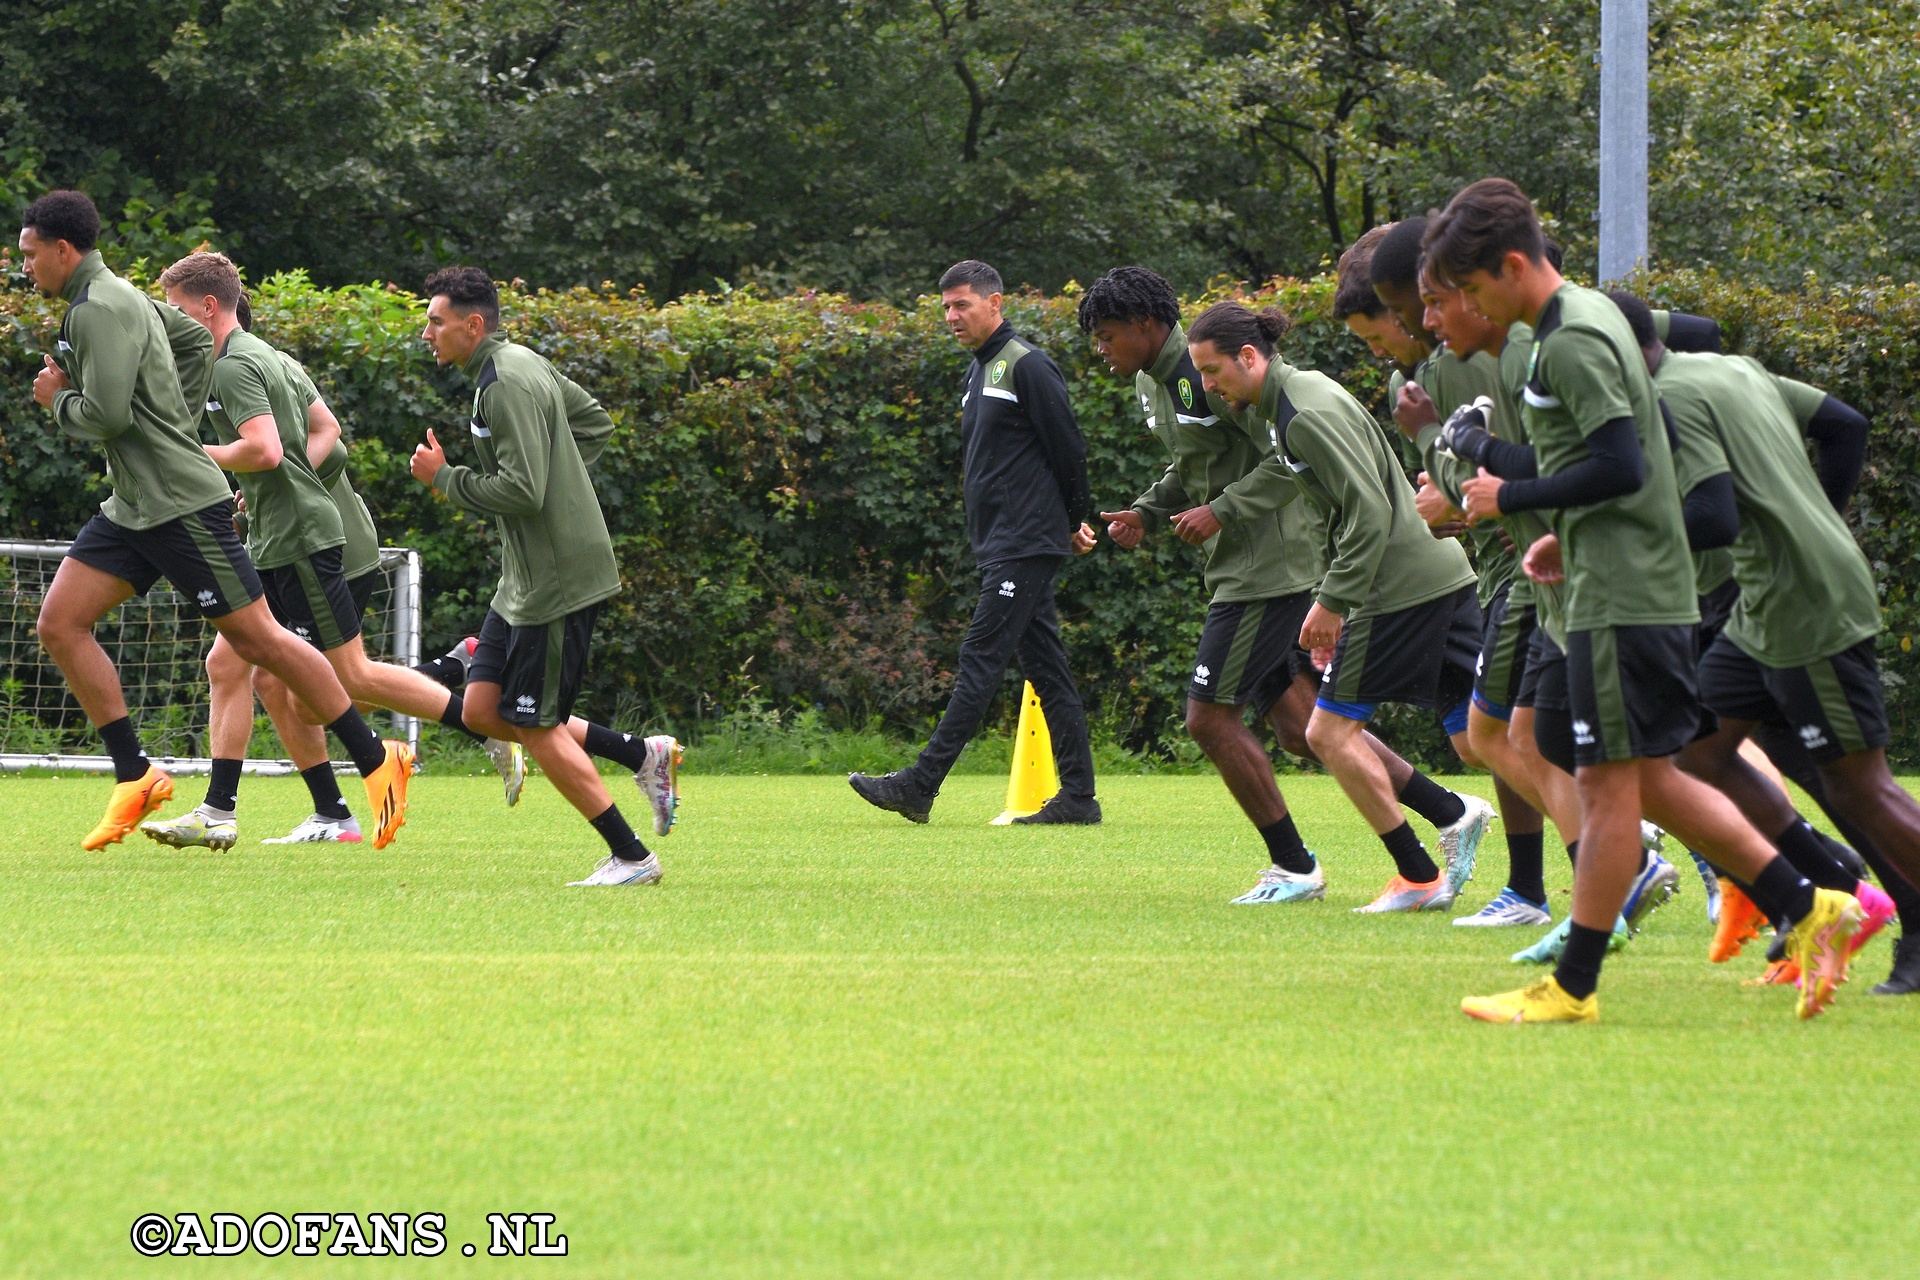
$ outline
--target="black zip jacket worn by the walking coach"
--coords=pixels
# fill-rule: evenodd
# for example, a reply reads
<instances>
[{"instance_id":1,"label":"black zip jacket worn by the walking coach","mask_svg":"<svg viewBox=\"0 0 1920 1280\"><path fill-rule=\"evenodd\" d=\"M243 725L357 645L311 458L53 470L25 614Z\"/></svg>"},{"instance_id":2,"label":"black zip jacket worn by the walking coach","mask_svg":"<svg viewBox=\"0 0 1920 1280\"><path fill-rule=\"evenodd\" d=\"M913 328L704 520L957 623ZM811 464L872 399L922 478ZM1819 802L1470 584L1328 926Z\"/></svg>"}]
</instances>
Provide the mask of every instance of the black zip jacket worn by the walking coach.
<instances>
[{"instance_id":1,"label":"black zip jacket worn by the walking coach","mask_svg":"<svg viewBox=\"0 0 1920 1280\"><path fill-rule=\"evenodd\" d=\"M1000 324L966 370L960 397L966 533L981 564L1069 555L1091 512L1087 441L1068 380L1044 351Z\"/></svg>"}]
</instances>

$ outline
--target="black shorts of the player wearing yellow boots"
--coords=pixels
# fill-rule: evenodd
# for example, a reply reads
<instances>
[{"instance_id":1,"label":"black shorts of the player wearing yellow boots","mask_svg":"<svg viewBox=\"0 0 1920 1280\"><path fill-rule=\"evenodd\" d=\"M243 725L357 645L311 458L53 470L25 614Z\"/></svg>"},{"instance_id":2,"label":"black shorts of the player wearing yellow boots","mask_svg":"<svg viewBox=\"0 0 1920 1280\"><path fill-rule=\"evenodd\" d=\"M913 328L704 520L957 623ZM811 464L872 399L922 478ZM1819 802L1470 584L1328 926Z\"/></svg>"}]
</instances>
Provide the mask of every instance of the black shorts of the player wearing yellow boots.
<instances>
[{"instance_id":1,"label":"black shorts of the player wearing yellow boots","mask_svg":"<svg viewBox=\"0 0 1920 1280\"><path fill-rule=\"evenodd\" d=\"M1699 729L1697 628L1603 628L1567 633L1574 760L1670 756Z\"/></svg>"}]
</instances>

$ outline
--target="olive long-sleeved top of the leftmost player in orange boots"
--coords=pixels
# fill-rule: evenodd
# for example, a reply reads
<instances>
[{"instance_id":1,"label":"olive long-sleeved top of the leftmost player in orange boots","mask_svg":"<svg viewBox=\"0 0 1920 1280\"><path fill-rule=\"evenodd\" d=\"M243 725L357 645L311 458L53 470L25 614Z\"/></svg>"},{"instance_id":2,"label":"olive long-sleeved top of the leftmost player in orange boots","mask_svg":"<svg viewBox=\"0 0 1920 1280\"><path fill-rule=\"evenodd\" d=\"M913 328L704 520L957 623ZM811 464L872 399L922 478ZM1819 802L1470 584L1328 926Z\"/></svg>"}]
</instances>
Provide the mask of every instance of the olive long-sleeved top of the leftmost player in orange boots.
<instances>
[{"instance_id":1,"label":"olive long-sleeved top of the leftmost player in orange boots","mask_svg":"<svg viewBox=\"0 0 1920 1280\"><path fill-rule=\"evenodd\" d=\"M150 530L232 497L200 447L200 411L180 390L163 309L108 271L98 249L60 296L67 315L56 363L73 386L54 395L54 422L106 449L113 493L100 512L121 528Z\"/></svg>"}]
</instances>

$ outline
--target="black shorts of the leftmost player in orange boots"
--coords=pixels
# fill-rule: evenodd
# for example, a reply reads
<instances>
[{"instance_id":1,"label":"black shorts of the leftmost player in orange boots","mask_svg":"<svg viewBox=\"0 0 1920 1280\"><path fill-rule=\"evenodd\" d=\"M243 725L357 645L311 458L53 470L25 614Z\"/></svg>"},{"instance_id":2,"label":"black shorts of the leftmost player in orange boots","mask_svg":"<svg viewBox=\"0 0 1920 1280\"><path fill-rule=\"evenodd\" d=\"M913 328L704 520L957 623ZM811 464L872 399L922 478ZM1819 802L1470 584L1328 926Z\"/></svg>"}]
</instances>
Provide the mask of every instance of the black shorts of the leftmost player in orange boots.
<instances>
[{"instance_id":1,"label":"black shorts of the leftmost player in orange boots","mask_svg":"<svg viewBox=\"0 0 1920 1280\"><path fill-rule=\"evenodd\" d=\"M94 516L67 555L146 595L165 578L202 618L225 618L257 601L259 572L234 533L234 505L215 503L150 530L129 530Z\"/></svg>"}]
</instances>

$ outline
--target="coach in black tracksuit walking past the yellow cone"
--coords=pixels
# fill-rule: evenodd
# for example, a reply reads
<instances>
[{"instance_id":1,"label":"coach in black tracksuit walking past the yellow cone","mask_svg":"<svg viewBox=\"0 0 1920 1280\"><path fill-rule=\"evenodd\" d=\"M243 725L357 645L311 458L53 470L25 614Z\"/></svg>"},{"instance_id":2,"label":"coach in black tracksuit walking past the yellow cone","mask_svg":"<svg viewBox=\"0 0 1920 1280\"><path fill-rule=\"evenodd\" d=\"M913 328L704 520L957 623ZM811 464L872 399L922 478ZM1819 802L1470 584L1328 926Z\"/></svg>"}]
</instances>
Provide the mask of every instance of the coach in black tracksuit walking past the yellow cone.
<instances>
[{"instance_id":1,"label":"coach in black tracksuit walking past the yellow cone","mask_svg":"<svg viewBox=\"0 0 1920 1280\"><path fill-rule=\"evenodd\" d=\"M979 604L960 645L952 700L912 768L847 781L868 802L925 821L947 771L973 739L1008 660L1033 681L1060 768L1060 794L1023 823L1096 823L1092 750L1068 651L1060 643L1054 574L1069 553L1092 549L1085 524L1087 441L1068 384L1044 351L1000 319L1000 274L958 263L941 276L954 338L973 347L960 399L966 459L966 532L979 562Z\"/></svg>"}]
</instances>

